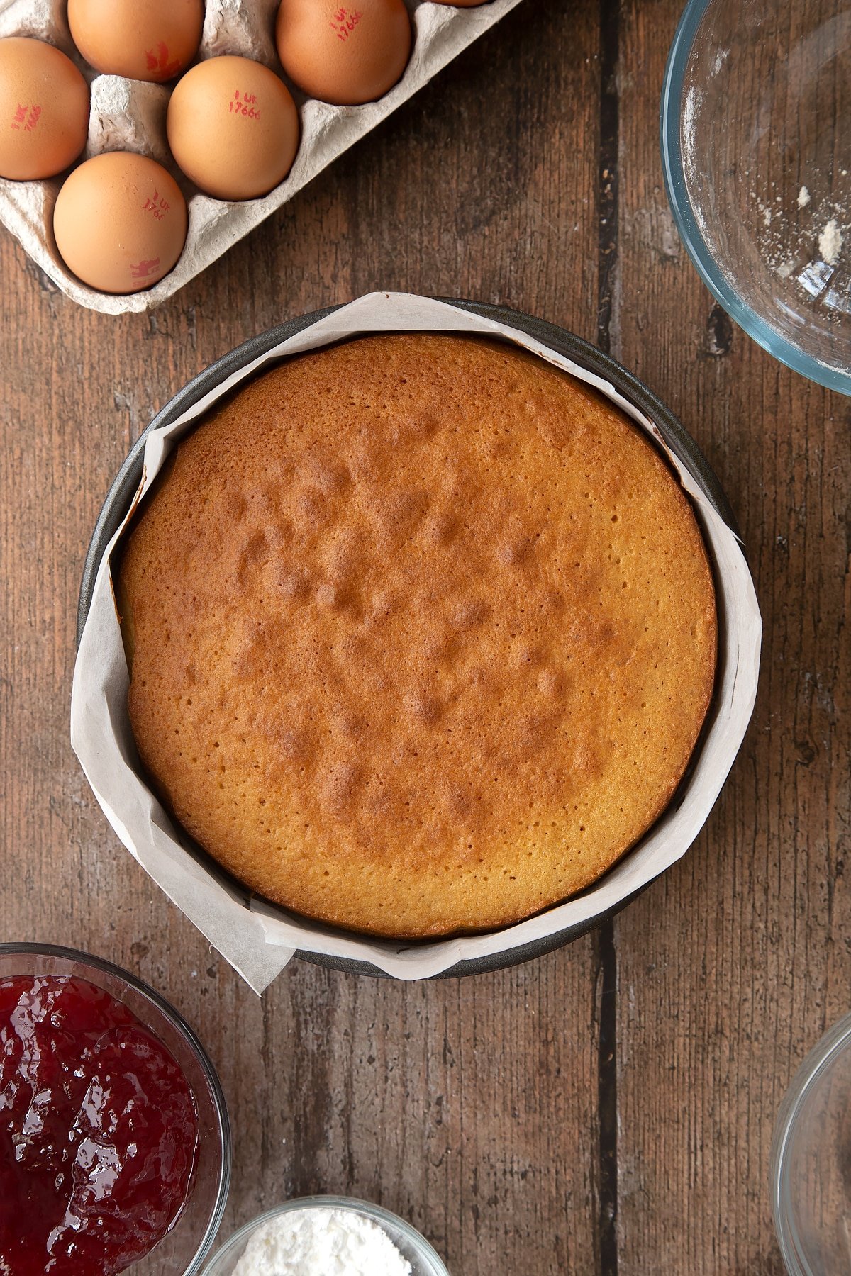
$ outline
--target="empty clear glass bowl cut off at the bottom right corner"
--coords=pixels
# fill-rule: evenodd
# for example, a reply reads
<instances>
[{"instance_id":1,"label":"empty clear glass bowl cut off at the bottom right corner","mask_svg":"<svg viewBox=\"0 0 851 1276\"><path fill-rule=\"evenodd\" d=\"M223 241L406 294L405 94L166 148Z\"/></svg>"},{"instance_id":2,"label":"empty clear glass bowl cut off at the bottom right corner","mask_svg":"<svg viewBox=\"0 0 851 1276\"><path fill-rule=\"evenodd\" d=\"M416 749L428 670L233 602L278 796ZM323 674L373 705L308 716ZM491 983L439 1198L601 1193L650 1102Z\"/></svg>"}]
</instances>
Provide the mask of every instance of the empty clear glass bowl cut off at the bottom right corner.
<instances>
[{"instance_id":1,"label":"empty clear glass bowl cut off at the bottom right corner","mask_svg":"<svg viewBox=\"0 0 851 1276\"><path fill-rule=\"evenodd\" d=\"M851 1271L851 1014L796 1072L774 1125L769 1173L790 1276Z\"/></svg>"}]
</instances>

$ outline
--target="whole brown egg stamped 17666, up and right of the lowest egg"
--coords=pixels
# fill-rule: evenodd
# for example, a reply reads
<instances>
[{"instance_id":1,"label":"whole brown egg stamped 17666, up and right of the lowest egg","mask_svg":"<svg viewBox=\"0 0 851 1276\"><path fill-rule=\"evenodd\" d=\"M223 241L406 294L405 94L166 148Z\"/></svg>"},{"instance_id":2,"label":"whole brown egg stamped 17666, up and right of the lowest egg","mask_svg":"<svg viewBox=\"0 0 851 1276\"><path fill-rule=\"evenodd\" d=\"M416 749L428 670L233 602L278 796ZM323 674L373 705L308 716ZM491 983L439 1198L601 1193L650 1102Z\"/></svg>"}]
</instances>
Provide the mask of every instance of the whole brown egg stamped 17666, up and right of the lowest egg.
<instances>
[{"instance_id":1,"label":"whole brown egg stamped 17666, up and right of the lowest egg","mask_svg":"<svg viewBox=\"0 0 851 1276\"><path fill-rule=\"evenodd\" d=\"M193 66L168 102L175 160L216 199L256 199L290 172L299 149L299 111L274 71L248 57Z\"/></svg>"}]
</instances>

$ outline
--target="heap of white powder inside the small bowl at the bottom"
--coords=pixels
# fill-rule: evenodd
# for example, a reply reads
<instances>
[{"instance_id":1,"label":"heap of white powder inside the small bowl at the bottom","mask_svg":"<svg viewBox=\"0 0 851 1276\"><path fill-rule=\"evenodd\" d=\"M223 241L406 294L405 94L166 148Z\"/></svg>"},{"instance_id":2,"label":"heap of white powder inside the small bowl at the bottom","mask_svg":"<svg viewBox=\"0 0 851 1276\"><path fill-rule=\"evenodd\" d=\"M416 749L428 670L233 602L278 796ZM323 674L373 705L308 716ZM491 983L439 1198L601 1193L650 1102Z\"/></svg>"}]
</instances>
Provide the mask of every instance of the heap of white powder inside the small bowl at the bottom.
<instances>
[{"instance_id":1,"label":"heap of white powder inside the small bowl at the bottom","mask_svg":"<svg viewBox=\"0 0 851 1276\"><path fill-rule=\"evenodd\" d=\"M352 1210L293 1210L254 1233L233 1276L411 1276L411 1263Z\"/></svg>"}]
</instances>

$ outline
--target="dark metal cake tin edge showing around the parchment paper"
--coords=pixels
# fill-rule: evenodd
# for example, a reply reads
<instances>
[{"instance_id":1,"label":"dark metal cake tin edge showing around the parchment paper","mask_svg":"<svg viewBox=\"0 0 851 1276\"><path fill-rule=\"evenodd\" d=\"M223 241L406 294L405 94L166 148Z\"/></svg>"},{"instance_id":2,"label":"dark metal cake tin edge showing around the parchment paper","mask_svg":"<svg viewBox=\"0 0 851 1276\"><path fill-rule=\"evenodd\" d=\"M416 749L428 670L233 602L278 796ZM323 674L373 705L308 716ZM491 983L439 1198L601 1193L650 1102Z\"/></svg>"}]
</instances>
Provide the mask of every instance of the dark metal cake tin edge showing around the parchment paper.
<instances>
[{"instance_id":1,"label":"dark metal cake tin edge showing around the parchment paper","mask_svg":"<svg viewBox=\"0 0 851 1276\"><path fill-rule=\"evenodd\" d=\"M692 436L686 433L674 413L661 402L661 399L658 399L657 396L653 394L653 392L649 390L637 376L621 367L621 365L614 359L564 328L545 323L540 319L533 319L529 315L509 310L504 306L484 305L473 301L459 301L454 299L439 300L445 300L447 305L454 306L458 310L470 311L485 319L492 319L498 323L504 323L517 328L558 353L573 360L573 362L581 367L596 373L610 382L625 399L633 403L640 412L644 413L644 416L655 422L665 443L669 444L671 449L685 461L693 477L699 484L713 509L732 531L736 530L732 510L730 509L730 504L721 489L721 485L716 475L712 472L708 461L699 450ZM103 501L103 507L94 524L94 532L85 555L77 615L78 644L92 604L94 581L103 553L126 517L142 480L143 454L148 433L172 424L240 367L253 362L268 351L274 350L278 345L281 345L281 342L311 327L338 309L341 308L329 306L324 310L316 310L311 314L301 315L297 319L291 319L258 337L253 337L236 350L232 350L230 353L222 356L222 359L217 360L191 382L189 382L188 385L179 390L175 397L157 413L157 416L154 416L144 433L137 439L107 493L106 500ZM447 328L443 330L449 332L450 329ZM559 930L556 934L547 935L532 943L521 944L503 952L471 960L462 960L449 970L444 970L434 977L448 979L459 975L484 974L486 971L501 970L508 966L518 966L535 957L542 957L546 953L552 952L556 948L561 948L564 944L568 944L596 929L603 921L620 912L621 909L624 909L642 891L634 892L625 900L619 901L615 907L598 912L589 921L570 925ZM383 977L388 977L384 971L379 970L369 961L307 952L305 949L299 949L296 956L304 958L305 961L311 961L333 970L344 970L355 974L380 975Z\"/></svg>"}]
</instances>

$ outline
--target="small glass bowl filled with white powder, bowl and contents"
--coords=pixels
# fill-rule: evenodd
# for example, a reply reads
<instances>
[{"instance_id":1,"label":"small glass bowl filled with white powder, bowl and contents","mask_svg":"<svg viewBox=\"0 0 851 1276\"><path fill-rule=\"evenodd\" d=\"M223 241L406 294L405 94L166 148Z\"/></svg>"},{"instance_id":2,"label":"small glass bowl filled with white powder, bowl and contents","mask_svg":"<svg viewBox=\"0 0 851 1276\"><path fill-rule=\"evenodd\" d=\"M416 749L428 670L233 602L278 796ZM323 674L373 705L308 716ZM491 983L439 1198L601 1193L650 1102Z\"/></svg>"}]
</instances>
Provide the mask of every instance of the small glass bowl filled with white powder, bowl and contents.
<instances>
[{"instance_id":1,"label":"small glass bowl filled with white powder, bowl and contents","mask_svg":"<svg viewBox=\"0 0 851 1276\"><path fill-rule=\"evenodd\" d=\"M302 1197L235 1233L203 1276L449 1276L429 1242L380 1206Z\"/></svg>"}]
</instances>

